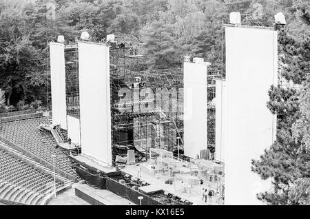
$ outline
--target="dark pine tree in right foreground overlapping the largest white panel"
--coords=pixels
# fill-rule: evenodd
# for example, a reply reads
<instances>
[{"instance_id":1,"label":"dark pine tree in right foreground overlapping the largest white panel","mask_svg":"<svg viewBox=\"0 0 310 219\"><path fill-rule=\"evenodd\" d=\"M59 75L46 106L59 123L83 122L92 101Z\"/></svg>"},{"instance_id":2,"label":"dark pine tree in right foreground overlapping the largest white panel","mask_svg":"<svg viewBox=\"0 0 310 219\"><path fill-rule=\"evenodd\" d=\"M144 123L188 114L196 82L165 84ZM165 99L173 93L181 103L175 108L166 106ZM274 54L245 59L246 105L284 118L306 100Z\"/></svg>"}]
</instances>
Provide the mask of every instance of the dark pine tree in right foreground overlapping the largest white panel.
<instances>
[{"instance_id":1,"label":"dark pine tree in right foreground overlapping the largest white panel","mask_svg":"<svg viewBox=\"0 0 310 219\"><path fill-rule=\"evenodd\" d=\"M295 8L289 8L299 14ZM300 25L295 16L289 20ZM292 24L291 24L292 25ZM302 28L301 28L302 29ZM262 179L272 178L274 191L258 194L269 205L304 205L309 201L309 32L293 33L289 28L279 32L281 77L293 87L271 87L267 106L278 116L275 143L258 160L252 170ZM299 87L302 87L300 89Z\"/></svg>"}]
</instances>

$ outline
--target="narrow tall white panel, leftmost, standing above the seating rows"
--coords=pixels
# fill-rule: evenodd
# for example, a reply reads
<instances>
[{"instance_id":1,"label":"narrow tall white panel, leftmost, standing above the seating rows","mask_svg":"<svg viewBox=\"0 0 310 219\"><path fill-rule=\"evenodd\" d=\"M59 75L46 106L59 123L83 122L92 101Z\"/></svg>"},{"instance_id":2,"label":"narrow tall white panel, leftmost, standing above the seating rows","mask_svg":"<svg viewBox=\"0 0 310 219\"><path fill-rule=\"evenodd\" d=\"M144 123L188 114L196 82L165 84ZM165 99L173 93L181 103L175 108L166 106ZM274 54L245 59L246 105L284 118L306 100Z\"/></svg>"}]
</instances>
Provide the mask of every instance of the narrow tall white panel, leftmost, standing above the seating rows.
<instances>
[{"instance_id":1,"label":"narrow tall white panel, leftmost, standing above the seating rows","mask_svg":"<svg viewBox=\"0 0 310 219\"><path fill-rule=\"evenodd\" d=\"M67 129L65 101L65 45L50 43L50 81L52 93L52 123Z\"/></svg>"}]
</instances>

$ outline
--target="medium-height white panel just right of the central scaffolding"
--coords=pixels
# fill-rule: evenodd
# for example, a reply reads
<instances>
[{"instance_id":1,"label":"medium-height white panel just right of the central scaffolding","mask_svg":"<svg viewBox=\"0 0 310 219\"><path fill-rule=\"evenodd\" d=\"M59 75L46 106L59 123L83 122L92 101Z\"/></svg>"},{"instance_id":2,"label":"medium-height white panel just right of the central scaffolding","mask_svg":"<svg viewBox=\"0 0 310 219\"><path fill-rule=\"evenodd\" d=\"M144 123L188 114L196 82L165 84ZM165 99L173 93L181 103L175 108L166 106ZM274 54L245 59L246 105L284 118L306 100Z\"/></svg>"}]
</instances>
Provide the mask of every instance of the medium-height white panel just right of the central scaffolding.
<instances>
[{"instance_id":1,"label":"medium-height white panel just right of the central scaffolding","mask_svg":"<svg viewBox=\"0 0 310 219\"><path fill-rule=\"evenodd\" d=\"M184 63L184 154L207 149L207 65Z\"/></svg>"}]
</instances>

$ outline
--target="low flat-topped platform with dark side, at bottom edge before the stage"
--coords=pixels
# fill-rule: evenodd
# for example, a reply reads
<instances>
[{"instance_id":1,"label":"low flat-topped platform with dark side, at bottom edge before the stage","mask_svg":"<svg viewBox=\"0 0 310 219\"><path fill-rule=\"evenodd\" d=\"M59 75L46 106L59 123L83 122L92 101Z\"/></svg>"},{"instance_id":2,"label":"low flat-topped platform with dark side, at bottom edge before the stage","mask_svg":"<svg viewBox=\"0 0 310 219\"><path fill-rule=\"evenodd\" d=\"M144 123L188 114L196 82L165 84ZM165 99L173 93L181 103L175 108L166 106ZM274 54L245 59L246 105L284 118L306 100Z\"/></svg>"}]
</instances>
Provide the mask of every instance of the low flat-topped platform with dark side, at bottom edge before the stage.
<instances>
[{"instance_id":1,"label":"low flat-topped platform with dark side, at bottom edge before the stage","mask_svg":"<svg viewBox=\"0 0 310 219\"><path fill-rule=\"evenodd\" d=\"M86 184L75 188L75 195L90 205L136 205L130 200L117 196L112 191L105 189L94 189Z\"/></svg>"}]
</instances>

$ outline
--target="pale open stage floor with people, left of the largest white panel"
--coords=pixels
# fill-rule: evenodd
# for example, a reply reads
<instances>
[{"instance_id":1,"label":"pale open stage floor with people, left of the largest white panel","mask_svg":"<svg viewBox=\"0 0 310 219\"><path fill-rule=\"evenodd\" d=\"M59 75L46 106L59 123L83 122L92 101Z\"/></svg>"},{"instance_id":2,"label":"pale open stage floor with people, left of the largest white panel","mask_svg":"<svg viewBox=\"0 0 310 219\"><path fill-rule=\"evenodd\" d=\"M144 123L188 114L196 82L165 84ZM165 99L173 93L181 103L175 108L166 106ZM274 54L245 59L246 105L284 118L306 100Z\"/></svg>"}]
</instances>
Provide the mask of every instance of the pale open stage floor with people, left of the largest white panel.
<instances>
[{"instance_id":1,"label":"pale open stage floor with people, left of the largest white panel","mask_svg":"<svg viewBox=\"0 0 310 219\"><path fill-rule=\"evenodd\" d=\"M143 163L139 163L143 165ZM165 181L167 180L161 174L150 174L146 172L141 172L141 177L138 177L138 172L136 169L136 165L126 165L125 168L122 169L123 172L135 176L136 178L140 178L145 182L149 183L150 185L156 185L157 188L161 188L164 191L168 191L170 194L183 198L185 200L189 200L193 203L193 205L223 205L223 202L220 200L219 194L216 194L212 198L212 202L205 202L202 196L202 189L208 188L209 186L216 192L216 183L209 182L204 180L203 185L194 185L190 191L185 192L184 188L182 187L180 178L175 178L175 183L172 185L166 184ZM172 178L174 180L174 178Z\"/></svg>"}]
</instances>

